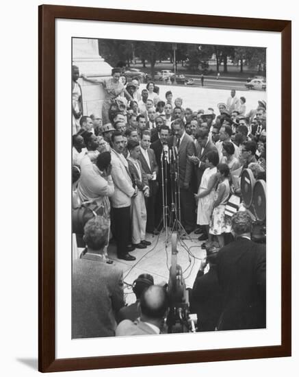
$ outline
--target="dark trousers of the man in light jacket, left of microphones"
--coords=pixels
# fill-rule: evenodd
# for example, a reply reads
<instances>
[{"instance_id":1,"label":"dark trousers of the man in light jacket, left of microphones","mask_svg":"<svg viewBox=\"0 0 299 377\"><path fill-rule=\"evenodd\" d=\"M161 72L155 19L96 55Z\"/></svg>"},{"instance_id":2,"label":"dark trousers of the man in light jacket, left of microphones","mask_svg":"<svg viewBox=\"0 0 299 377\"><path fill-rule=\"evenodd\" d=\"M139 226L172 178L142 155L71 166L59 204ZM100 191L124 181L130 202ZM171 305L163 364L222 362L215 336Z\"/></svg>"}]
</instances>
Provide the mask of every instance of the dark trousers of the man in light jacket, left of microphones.
<instances>
[{"instance_id":1,"label":"dark trousers of the man in light jacket, left of microphones","mask_svg":"<svg viewBox=\"0 0 299 377\"><path fill-rule=\"evenodd\" d=\"M112 208L112 212L114 237L119 257L127 254L127 246L131 243L131 206Z\"/></svg>"}]
</instances>

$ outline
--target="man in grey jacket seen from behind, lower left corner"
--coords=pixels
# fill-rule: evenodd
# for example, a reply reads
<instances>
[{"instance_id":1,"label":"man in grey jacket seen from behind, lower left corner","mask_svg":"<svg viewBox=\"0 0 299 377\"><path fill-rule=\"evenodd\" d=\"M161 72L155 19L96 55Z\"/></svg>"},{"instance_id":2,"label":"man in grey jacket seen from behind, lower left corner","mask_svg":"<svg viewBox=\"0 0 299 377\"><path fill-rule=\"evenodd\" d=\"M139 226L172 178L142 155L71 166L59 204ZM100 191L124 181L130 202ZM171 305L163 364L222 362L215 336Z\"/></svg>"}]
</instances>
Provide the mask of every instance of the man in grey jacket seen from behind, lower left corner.
<instances>
[{"instance_id":1,"label":"man in grey jacket seen from behind, lower left corner","mask_svg":"<svg viewBox=\"0 0 299 377\"><path fill-rule=\"evenodd\" d=\"M114 337L116 315L125 305L122 270L105 263L109 222L93 217L84 227L87 249L73 262L72 338Z\"/></svg>"}]
</instances>

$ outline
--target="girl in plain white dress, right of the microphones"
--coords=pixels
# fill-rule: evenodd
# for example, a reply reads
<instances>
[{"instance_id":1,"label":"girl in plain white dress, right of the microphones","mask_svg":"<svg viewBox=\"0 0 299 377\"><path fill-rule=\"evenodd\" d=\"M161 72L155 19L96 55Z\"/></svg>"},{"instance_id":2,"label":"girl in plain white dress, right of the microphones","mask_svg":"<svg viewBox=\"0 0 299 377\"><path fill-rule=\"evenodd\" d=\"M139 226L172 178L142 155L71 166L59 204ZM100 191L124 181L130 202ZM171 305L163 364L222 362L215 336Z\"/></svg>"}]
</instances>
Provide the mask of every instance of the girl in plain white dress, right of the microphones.
<instances>
[{"instance_id":1,"label":"girl in plain white dress, right of the microphones","mask_svg":"<svg viewBox=\"0 0 299 377\"><path fill-rule=\"evenodd\" d=\"M209 151L207 153L206 165L207 169L203 172L203 177L200 181L198 193L194 194L198 199L197 206L197 224L206 227L206 234L209 234L209 223L211 221L211 213L213 210L213 203L216 197L217 184L217 165L219 163L219 156L217 151ZM201 239L201 241L204 241Z\"/></svg>"}]
</instances>

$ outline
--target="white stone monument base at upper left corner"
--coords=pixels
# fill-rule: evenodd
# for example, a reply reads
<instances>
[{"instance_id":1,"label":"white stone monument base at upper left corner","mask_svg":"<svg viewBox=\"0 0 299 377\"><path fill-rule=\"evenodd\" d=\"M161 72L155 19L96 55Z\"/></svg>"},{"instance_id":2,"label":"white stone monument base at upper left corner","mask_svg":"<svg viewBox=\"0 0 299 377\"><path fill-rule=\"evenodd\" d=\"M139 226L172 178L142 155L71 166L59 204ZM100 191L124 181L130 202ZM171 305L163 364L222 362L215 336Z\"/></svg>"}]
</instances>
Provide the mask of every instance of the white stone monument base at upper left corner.
<instances>
[{"instance_id":1,"label":"white stone monument base at upper left corner","mask_svg":"<svg viewBox=\"0 0 299 377\"><path fill-rule=\"evenodd\" d=\"M108 78L111 76L110 66L99 55L97 39L73 38L73 65L79 67L80 73L90 78ZM82 88L83 115L102 113L102 103L105 97L101 85L92 84L79 78Z\"/></svg>"}]
</instances>

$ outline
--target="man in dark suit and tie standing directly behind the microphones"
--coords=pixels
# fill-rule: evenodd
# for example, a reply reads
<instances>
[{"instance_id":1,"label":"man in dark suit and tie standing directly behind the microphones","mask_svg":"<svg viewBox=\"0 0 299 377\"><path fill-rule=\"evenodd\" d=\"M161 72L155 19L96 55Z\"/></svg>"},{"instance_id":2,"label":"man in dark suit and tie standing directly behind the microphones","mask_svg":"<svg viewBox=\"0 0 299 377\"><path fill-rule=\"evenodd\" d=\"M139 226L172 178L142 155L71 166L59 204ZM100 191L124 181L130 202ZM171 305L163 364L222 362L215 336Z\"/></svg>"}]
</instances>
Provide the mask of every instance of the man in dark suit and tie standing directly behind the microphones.
<instances>
[{"instance_id":1,"label":"man in dark suit and tie standing directly behind the microphones","mask_svg":"<svg viewBox=\"0 0 299 377\"><path fill-rule=\"evenodd\" d=\"M153 149L155 153L155 158L158 165L158 174L157 174L157 182L158 182L158 191L156 195L156 203L155 203L155 228L158 228L159 223L161 221L162 213L163 213L163 200L162 200L162 190L164 186L164 194L166 190L166 178L168 182L168 201L170 201L170 169L169 169L169 160L164 159L164 152L163 152L163 145L166 145L166 150L168 150L168 137L169 137L169 128L167 125L162 125L161 130L159 131L159 138L157 141L151 144L151 149ZM162 156L163 154L163 156ZM161 158L162 156L162 158ZM163 169L164 169L164 184L162 184L162 160L163 160ZM170 204L168 202L168 204Z\"/></svg>"}]
</instances>

